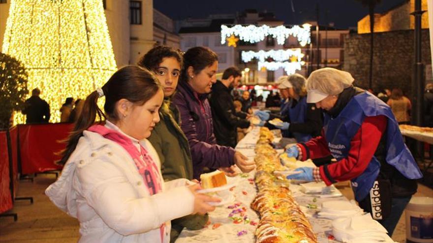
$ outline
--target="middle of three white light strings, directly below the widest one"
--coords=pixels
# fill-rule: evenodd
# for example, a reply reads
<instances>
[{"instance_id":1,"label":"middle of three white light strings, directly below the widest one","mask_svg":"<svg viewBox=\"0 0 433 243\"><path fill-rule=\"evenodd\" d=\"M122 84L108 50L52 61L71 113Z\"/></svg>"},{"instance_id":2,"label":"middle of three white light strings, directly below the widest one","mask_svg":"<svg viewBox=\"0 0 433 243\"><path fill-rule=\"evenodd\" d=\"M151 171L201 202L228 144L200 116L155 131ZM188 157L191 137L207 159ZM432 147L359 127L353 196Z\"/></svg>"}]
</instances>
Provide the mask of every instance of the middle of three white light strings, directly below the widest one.
<instances>
[{"instance_id":1,"label":"middle of three white light strings, directly below the widest one","mask_svg":"<svg viewBox=\"0 0 433 243\"><path fill-rule=\"evenodd\" d=\"M304 54L300 48L270 51L260 50L258 52L242 51L241 53L241 58L244 62L250 62L253 58L257 58L259 61L264 62L269 57L278 62L287 61L290 57L297 57L297 61L301 61Z\"/></svg>"}]
</instances>

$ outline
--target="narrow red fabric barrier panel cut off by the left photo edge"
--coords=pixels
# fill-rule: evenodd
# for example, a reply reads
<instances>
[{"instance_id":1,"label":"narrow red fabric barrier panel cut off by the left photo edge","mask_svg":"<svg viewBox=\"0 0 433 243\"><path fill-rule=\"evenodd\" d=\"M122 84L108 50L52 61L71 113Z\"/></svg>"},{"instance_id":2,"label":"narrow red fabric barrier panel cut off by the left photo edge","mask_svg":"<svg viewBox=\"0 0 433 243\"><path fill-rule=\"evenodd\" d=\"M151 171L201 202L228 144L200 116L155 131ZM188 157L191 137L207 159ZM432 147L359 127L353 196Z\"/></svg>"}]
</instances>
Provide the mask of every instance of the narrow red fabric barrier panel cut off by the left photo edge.
<instances>
[{"instance_id":1,"label":"narrow red fabric barrier panel cut off by the left photo edge","mask_svg":"<svg viewBox=\"0 0 433 243\"><path fill-rule=\"evenodd\" d=\"M9 188L9 155L6 132L0 132L0 213L12 209L12 196Z\"/></svg>"}]
</instances>

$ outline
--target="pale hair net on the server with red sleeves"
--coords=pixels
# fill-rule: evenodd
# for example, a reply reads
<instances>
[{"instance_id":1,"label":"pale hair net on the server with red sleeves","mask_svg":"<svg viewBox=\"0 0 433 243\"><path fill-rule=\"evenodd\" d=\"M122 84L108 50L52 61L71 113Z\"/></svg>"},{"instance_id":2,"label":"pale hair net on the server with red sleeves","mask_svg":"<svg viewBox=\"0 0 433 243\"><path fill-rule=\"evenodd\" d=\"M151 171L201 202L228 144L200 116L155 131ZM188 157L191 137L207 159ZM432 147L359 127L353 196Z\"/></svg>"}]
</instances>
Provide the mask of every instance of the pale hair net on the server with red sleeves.
<instances>
[{"instance_id":1,"label":"pale hair net on the server with red sleeves","mask_svg":"<svg viewBox=\"0 0 433 243\"><path fill-rule=\"evenodd\" d=\"M317 90L327 95L338 95L352 85L352 75L335 68L321 68L311 73L307 80L307 92Z\"/></svg>"}]
</instances>

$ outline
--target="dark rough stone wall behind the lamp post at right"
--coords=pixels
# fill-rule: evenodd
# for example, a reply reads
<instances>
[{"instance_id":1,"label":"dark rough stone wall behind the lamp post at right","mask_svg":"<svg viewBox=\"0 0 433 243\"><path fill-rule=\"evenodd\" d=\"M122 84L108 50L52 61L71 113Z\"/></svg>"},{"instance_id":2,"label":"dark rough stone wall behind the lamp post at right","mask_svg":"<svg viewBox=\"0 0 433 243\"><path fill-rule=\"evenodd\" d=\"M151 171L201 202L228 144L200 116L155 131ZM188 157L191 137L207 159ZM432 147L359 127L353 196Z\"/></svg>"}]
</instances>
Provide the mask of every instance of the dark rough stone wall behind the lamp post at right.
<instances>
[{"instance_id":1,"label":"dark rough stone wall behind the lamp post at right","mask_svg":"<svg viewBox=\"0 0 433 243\"><path fill-rule=\"evenodd\" d=\"M373 89L400 87L410 96L414 64L413 30L374 33ZM429 30L422 30L422 62L430 67ZM343 70L355 78L355 85L368 87L370 34L349 34L344 40ZM430 75L431 77L431 75Z\"/></svg>"}]
</instances>

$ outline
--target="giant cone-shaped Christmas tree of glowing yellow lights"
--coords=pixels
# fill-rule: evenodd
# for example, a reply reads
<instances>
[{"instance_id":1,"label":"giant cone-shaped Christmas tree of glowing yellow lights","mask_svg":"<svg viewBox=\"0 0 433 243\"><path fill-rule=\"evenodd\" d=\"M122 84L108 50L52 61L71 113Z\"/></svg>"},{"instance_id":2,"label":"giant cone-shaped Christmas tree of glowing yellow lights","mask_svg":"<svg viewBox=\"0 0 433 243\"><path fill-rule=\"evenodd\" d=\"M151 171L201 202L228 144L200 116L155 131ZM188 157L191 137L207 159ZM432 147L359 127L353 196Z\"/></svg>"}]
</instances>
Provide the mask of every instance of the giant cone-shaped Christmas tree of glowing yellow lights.
<instances>
[{"instance_id":1,"label":"giant cone-shaped Christmas tree of glowing yellow lights","mask_svg":"<svg viewBox=\"0 0 433 243\"><path fill-rule=\"evenodd\" d=\"M85 98L116 71L101 0L11 0L2 52L24 64L51 122L60 121L66 97Z\"/></svg>"}]
</instances>

